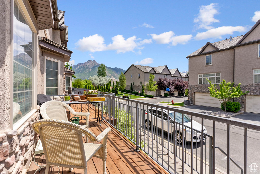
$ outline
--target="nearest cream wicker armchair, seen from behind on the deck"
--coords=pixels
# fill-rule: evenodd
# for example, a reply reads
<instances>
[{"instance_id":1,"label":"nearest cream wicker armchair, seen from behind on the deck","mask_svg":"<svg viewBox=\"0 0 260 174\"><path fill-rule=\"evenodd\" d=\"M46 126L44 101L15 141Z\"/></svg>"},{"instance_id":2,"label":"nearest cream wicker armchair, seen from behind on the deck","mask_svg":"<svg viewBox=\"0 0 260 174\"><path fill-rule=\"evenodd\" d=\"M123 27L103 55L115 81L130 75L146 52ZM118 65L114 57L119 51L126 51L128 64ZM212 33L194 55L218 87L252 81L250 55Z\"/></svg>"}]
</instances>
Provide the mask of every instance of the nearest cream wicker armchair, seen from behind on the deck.
<instances>
[{"instance_id":1,"label":"nearest cream wicker armchair, seen from behind on the deck","mask_svg":"<svg viewBox=\"0 0 260 174\"><path fill-rule=\"evenodd\" d=\"M68 121L44 119L35 121L32 126L42 140L47 164L45 174L48 174L50 165L84 169L86 174L87 162L92 157L103 160L103 174L107 173L107 135L111 128L106 128L99 136L95 136L87 128ZM84 143L82 133L92 142L103 142Z\"/></svg>"}]
</instances>

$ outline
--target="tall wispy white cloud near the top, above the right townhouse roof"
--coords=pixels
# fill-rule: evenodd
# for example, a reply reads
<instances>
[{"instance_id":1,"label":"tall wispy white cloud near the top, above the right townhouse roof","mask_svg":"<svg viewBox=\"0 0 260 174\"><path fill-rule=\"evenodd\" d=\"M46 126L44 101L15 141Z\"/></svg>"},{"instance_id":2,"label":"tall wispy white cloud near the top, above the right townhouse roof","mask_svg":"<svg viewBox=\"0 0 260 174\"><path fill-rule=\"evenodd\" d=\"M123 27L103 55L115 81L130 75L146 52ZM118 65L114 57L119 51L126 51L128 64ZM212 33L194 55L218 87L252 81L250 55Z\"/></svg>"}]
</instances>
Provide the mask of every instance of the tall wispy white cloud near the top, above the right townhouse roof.
<instances>
[{"instance_id":1,"label":"tall wispy white cloud near the top, above the right townhouse roof","mask_svg":"<svg viewBox=\"0 0 260 174\"><path fill-rule=\"evenodd\" d=\"M219 14L217 10L216 3L211 3L210 5L202 5L199 7L198 17L194 18L197 29L212 29L214 27L210 26L214 22L219 22L219 20L214 18L214 15Z\"/></svg>"}]
</instances>

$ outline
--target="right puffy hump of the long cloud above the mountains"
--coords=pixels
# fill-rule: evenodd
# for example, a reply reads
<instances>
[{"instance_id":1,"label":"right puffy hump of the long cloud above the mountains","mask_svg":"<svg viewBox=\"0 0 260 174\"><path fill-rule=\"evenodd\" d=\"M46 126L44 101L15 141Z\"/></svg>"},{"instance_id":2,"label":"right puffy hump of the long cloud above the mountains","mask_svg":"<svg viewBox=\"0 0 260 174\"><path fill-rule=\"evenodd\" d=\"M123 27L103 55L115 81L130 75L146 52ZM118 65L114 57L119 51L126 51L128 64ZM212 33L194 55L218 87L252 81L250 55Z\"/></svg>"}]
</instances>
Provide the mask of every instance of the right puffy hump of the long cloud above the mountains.
<instances>
[{"instance_id":1,"label":"right puffy hump of the long cloud above the mountains","mask_svg":"<svg viewBox=\"0 0 260 174\"><path fill-rule=\"evenodd\" d=\"M113 43L107 45L107 49L116 50L117 53L134 52L134 48L137 47L135 40L136 36L125 40L123 35L117 35L112 38Z\"/></svg>"}]
</instances>

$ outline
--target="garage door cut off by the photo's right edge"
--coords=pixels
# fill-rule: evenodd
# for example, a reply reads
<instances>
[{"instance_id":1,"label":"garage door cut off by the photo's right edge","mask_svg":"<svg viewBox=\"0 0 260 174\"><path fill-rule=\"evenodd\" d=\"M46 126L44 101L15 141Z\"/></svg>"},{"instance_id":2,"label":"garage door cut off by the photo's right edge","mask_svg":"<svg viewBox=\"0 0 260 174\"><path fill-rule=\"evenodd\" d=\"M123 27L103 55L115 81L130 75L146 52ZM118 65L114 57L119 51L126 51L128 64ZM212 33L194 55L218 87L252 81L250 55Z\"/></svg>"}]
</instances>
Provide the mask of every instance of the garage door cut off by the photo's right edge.
<instances>
[{"instance_id":1,"label":"garage door cut off by the photo's right edge","mask_svg":"<svg viewBox=\"0 0 260 174\"><path fill-rule=\"evenodd\" d=\"M259 95L246 95L246 112L260 113Z\"/></svg>"}]
</instances>

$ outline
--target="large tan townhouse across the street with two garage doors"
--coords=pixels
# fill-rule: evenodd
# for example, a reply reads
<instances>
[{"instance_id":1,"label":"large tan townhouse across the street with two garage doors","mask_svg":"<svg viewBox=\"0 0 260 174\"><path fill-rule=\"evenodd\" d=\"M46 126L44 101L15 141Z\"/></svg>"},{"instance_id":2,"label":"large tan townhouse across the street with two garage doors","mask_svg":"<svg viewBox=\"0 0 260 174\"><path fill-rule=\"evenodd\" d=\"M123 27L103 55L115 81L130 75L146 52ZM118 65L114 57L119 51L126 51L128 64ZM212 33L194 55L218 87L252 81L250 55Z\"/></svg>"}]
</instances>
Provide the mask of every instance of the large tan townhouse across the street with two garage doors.
<instances>
[{"instance_id":1,"label":"large tan townhouse across the street with two garage doors","mask_svg":"<svg viewBox=\"0 0 260 174\"><path fill-rule=\"evenodd\" d=\"M260 20L245 35L210 43L191 53L189 58L189 100L195 105L220 107L210 97L209 79L219 87L226 82L241 83L248 94L235 98L246 112L260 113Z\"/></svg>"}]
</instances>

